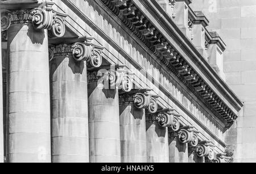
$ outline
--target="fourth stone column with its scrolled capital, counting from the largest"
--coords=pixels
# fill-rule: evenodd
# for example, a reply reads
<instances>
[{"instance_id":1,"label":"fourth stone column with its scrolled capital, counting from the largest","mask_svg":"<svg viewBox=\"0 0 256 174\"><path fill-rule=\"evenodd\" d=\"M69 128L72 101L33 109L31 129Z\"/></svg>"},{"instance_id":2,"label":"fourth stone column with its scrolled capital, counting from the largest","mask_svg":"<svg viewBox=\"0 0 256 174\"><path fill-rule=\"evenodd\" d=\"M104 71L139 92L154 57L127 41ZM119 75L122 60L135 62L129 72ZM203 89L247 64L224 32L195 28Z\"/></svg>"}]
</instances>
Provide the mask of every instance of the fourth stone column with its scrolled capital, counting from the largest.
<instances>
[{"instance_id":1,"label":"fourth stone column with its scrolled capital, counting from the largest","mask_svg":"<svg viewBox=\"0 0 256 174\"><path fill-rule=\"evenodd\" d=\"M119 93L121 162L146 163L146 117L151 90Z\"/></svg>"}]
</instances>

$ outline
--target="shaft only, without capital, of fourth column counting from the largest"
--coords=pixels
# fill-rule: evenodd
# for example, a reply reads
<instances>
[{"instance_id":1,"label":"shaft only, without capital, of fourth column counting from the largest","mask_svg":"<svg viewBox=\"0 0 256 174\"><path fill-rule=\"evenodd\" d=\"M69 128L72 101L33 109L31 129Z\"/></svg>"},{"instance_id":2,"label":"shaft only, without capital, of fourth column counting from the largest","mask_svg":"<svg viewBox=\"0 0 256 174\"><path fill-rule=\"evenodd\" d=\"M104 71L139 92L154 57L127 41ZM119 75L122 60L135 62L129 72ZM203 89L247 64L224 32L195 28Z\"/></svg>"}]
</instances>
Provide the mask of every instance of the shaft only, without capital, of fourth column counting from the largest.
<instances>
[{"instance_id":1,"label":"shaft only, without capital, of fourth column counting from the largest","mask_svg":"<svg viewBox=\"0 0 256 174\"><path fill-rule=\"evenodd\" d=\"M121 162L146 163L145 109L134 104L120 105Z\"/></svg>"}]
</instances>

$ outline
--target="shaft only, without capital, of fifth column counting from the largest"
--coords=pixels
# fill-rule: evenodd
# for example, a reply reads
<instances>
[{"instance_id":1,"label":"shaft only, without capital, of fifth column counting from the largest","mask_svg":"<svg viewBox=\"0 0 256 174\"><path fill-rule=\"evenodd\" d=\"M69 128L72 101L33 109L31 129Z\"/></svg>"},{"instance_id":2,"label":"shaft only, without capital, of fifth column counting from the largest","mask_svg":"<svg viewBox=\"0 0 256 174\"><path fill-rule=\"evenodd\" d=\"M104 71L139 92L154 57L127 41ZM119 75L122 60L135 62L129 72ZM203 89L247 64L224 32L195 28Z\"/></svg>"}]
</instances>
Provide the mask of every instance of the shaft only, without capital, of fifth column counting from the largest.
<instances>
[{"instance_id":1,"label":"shaft only, without capital, of fifth column counting from the largest","mask_svg":"<svg viewBox=\"0 0 256 174\"><path fill-rule=\"evenodd\" d=\"M168 163L168 128L162 128L157 123L146 123L147 162Z\"/></svg>"}]
</instances>

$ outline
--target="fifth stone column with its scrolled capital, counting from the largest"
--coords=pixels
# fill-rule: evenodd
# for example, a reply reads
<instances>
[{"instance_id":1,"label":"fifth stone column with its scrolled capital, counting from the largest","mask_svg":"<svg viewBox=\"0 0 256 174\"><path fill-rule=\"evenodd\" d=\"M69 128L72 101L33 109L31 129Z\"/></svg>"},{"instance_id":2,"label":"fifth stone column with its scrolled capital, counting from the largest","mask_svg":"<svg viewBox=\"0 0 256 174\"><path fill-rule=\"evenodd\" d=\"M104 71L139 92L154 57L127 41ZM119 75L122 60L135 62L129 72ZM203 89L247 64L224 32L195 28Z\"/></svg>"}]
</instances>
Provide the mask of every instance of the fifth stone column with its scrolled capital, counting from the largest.
<instances>
[{"instance_id":1,"label":"fifth stone column with its scrolled capital, counting from the largest","mask_svg":"<svg viewBox=\"0 0 256 174\"><path fill-rule=\"evenodd\" d=\"M146 116L147 162L168 163L168 128L179 128L174 109L159 109Z\"/></svg>"}]
</instances>

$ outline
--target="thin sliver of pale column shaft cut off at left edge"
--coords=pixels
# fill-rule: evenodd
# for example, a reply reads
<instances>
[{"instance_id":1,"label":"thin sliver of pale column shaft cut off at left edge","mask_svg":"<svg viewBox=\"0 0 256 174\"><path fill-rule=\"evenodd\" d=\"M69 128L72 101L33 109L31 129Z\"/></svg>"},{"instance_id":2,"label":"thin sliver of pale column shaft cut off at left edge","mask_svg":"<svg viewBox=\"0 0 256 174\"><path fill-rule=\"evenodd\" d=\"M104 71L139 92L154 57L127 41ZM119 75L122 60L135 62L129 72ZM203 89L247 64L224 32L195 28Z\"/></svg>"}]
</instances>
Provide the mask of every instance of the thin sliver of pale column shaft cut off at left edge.
<instances>
[{"instance_id":1,"label":"thin sliver of pale column shaft cut off at left edge","mask_svg":"<svg viewBox=\"0 0 256 174\"><path fill-rule=\"evenodd\" d=\"M1 9L0 9L0 26L1 26ZM2 29L1 29L2 32ZM2 35L2 34L1 34ZM2 80L2 39L0 35L0 163L3 163L4 160L4 145L3 145L3 80Z\"/></svg>"}]
</instances>

